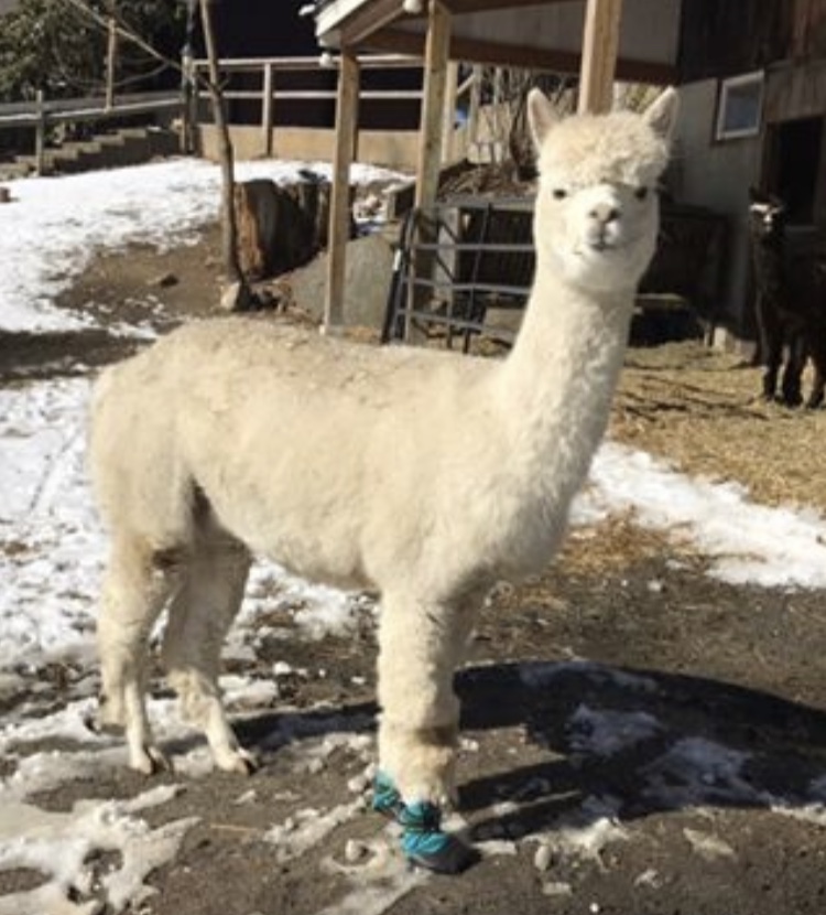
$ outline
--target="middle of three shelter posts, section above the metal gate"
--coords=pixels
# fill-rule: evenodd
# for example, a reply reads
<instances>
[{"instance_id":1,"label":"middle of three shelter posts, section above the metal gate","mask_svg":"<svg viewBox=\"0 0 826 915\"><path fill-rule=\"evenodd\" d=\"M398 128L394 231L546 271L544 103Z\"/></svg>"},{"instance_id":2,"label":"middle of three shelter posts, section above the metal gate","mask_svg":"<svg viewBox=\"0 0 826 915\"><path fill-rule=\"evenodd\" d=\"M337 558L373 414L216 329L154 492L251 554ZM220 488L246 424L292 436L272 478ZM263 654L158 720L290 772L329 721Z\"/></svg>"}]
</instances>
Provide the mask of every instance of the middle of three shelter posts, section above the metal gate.
<instances>
[{"instance_id":1,"label":"middle of three shelter posts, section above the metal gate","mask_svg":"<svg viewBox=\"0 0 826 915\"><path fill-rule=\"evenodd\" d=\"M441 0L431 0L415 197L416 206L424 208L433 205L438 191L449 52L450 12Z\"/></svg>"}]
</instances>

